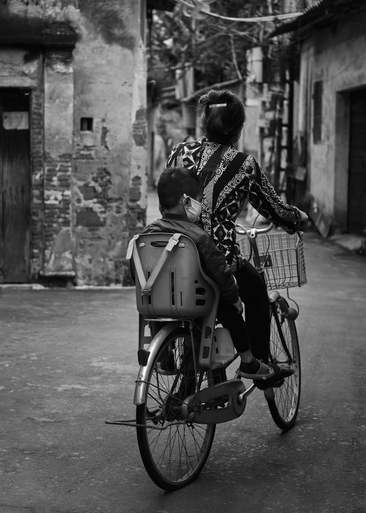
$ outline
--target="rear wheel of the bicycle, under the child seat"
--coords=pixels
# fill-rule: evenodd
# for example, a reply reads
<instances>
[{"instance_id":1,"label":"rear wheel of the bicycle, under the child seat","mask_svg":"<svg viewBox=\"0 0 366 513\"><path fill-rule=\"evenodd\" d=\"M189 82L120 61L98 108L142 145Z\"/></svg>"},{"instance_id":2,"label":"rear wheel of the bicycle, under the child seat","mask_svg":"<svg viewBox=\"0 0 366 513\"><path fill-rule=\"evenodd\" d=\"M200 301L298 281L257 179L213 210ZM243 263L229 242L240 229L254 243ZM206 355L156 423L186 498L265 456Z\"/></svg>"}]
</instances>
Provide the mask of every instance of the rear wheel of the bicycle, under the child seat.
<instances>
[{"instance_id":1,"label":"rear wheel of the bicycle, under the child seat","mask_svg":"<svg viewBox=\"0 0 366 513\"><path fill-rule=\"evenodd\" d=\"M168 351L177 369L172 375L161 374L157 367ZM154 483L167 491L182 488L198 477L215 435L215 424L182 420L182 401L196 391L193 369L190 331L180 327L162 343L148 374L145 401L136 407L137 424L146 425L137 427L141 459ZM199 370L198 374L201 389L213 384L210 371ZM177 424L179 421L182 423Z\"/></svg>"}]
</instances>

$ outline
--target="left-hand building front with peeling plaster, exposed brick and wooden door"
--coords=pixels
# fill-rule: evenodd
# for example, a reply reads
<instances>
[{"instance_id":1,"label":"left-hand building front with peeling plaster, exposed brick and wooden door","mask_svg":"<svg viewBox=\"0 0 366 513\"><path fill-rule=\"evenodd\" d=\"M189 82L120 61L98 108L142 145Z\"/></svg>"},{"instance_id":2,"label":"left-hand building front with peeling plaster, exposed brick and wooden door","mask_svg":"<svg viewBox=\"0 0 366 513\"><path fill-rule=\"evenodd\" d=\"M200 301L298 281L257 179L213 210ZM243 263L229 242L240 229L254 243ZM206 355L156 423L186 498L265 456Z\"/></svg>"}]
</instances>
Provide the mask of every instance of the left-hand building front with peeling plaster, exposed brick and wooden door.
<instances>
[{"instance_id":1,"label":"left-hand building front with peeling plaster, exposed brick and wooden door","mask_svg":"<svg viewBox=\"0 0 366 513\"><path fill-rule=\"evenodd\" d=\"M0 3L0 282L129 283L146 215L145 11Z\"/></svg>"}]
</instances>

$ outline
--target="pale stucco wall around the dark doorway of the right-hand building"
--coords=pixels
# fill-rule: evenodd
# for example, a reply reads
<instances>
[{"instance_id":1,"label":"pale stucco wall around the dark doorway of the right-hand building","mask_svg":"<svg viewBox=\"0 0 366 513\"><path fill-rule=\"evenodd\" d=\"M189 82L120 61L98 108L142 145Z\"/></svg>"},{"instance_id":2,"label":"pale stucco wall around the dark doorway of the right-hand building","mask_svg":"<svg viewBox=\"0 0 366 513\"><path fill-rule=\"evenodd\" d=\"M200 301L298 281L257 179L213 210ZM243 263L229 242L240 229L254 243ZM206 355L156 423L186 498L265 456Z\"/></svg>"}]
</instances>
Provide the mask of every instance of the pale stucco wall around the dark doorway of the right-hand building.
<instances>
[{"instance_id":1,"label":"pale stucco wall around the dark doorway of the right-hand building","mask_svg":"<svg viewBox=\"0 0 366 513\"><path fill-rule=\"evenodd\" d=\"M306 51L301 54L311 68L308 94L315 81L323 82L321 142L314 144L312 132L308 134L310 192L320 209L339 225L347 213L347 93L366 86L365 26L365 13L342 19L336 27L317 31L305 40ZM307 81L302 84L306 87Z\"/></svg>"}]
</instances>

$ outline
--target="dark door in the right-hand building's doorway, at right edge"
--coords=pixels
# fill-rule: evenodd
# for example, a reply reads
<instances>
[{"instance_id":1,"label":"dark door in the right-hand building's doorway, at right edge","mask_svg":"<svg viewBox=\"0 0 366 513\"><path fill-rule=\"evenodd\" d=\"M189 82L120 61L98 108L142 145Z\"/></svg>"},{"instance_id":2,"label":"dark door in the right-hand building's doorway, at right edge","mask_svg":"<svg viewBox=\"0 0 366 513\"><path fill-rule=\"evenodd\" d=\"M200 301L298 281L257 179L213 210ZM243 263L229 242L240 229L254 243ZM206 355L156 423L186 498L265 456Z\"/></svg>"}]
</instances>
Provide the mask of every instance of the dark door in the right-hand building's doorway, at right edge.
<instances>
[{"instance_id":1,"label":"dark door in the right-hand building's doorway, at right edge","mask_svg":"<svg viewBox=\"0 0 366 513\"><path fill-rule=\"evenodd\" d=\"M366 233L366 89L350 95L348 229Z\"/></svg>"}]
</instances>

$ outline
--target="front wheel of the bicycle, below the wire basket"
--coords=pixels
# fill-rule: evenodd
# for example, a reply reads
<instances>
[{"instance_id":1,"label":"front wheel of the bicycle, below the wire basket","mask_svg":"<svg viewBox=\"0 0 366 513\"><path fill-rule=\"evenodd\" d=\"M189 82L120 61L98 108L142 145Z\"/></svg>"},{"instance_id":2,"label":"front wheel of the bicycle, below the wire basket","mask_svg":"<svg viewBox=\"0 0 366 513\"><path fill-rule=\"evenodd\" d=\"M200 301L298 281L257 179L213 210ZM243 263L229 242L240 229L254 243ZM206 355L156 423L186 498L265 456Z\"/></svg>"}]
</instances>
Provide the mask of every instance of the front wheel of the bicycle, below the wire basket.
<instances>
[{"instance_id":1,"label":"front wheel of the bicycle, below the wire basket","mask_svg":"<svg viewBox=\"0 0 366 513\"><path fill-rule=\"evenodd\" d=\"M278 323L280 324L291 359L289 359L280 339ZM294 374L286 378L280 387L265 390L265 396L274 422L283 431L288 431L295 424L300 404L300 349L295 322L281 318L281 310L277 301L273 303L271 313L270 362L290 363L295 370Z\"/></svg>"}]
</instances>

